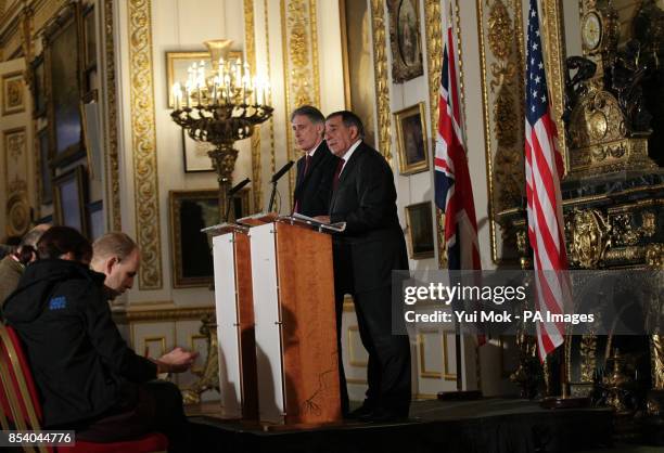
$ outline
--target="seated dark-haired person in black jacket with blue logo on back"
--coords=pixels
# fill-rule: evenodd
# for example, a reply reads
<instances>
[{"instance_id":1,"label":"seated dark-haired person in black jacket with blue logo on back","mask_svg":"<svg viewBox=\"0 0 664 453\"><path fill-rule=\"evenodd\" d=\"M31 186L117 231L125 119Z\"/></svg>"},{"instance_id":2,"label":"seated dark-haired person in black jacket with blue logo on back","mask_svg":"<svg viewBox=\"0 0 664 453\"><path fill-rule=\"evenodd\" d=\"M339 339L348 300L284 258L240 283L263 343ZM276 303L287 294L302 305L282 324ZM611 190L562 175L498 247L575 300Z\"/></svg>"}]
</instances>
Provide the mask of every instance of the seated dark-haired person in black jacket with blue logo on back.
<instances>
[{"instance_id":1,"label":"seated dark-haired person in black jacket with blue logo on back","mask_svg":"<svg viewBox=\"0 0 664 453\"><path fill-rule=\"evenodd\" d=\"M25 345L44 427L75 429L77 439L99 442L158 430L170 451L186 451L179 390L151 380L187 371L196 354L176 348L149 360L127 347L111 318L105 275L88 268L92 247L78 231L51 228L37 253L40 259L26 268L3 311Z\"/></svg>"}]
</instances>

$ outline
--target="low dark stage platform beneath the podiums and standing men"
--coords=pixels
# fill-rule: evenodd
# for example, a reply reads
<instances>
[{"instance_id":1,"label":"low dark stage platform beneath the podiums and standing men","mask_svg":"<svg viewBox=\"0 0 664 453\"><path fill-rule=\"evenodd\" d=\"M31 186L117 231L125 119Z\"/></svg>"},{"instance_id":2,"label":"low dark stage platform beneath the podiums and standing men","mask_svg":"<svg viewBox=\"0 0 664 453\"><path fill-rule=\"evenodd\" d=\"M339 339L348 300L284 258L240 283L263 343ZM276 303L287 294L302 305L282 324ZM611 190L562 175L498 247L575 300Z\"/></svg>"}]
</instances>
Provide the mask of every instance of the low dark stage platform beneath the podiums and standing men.
<instances>
[{"instance_id":1,"label":"low dark stage platform beneath the podiums and standing men","mask_svg":"<svg viewBox=\"0 0 664 453\"><path fill-rule=\"evenodd\" d=\"M228 422L216 412L210 403L189 407L192 451L563 453L605 448L613 432L610 410L545 410L519 399L413 401L407 422L306 429Z\"/></svg>"}]
</instances>

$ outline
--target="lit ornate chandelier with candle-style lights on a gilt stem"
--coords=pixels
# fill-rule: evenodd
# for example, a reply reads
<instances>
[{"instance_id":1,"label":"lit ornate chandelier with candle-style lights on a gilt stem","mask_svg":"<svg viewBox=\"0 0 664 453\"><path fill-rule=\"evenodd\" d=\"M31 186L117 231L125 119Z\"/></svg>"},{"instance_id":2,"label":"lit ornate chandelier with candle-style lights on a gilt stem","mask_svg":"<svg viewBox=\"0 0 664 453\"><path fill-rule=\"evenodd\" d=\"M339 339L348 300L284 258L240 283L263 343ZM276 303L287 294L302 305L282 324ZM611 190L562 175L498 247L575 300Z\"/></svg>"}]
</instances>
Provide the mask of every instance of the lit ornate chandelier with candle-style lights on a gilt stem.
<instances>
[{"instance_id":1,"label":"lit ornate chandelier with candle-style lights on a gilt stem","mask_svg":"<svg viewBox=\"0 0 664 453\"><path fill-rule=\"evenodd\" d=\"M219 183L219 216L228 220L228 193L238 158L233 144L247 139L254 126L272 116L269 85L252 78L248 64L241 59L227 59L230 39L205 41L210 62L194 63L188 79L171 87L175 109L170 117L197 142L215 146L207 152Z\"/></svg>"}]
</instances>

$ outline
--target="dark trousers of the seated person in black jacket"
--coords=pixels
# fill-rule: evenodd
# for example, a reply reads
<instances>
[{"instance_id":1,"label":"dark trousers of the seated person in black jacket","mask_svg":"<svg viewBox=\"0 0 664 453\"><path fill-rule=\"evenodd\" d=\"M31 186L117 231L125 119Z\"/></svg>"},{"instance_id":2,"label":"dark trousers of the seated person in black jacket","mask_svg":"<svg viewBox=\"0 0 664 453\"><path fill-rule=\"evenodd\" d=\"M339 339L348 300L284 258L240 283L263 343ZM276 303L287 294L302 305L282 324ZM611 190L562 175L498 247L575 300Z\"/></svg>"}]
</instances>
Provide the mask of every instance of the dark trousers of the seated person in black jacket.
<instances>
[{"instance_id":1,"label":"dark trousers of the seated person in black jacket","mask_svg":"<svg viewBox=\"0 0 664 453\"><path fill-rule=\"evenodd\" d=\"M188 452L189 423L178 387L166 380L128 385L118 404L76 430L76 438L116 442L158 431L168 438L169 452Z\"/></svg>"}]
</instances>

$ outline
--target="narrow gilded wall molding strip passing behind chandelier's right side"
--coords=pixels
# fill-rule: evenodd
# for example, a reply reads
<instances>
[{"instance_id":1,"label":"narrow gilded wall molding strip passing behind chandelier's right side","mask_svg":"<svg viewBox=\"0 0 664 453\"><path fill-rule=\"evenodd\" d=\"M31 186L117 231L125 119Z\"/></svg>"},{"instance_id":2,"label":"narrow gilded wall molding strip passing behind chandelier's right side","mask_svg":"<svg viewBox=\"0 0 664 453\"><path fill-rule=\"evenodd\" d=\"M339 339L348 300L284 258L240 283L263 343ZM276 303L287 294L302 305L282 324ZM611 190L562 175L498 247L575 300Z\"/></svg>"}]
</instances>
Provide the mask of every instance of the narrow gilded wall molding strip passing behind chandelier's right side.
<instances>
[{"instance_id":1,"label":"narrow gilded wall molding strip passing behind chandelier's right side","mask_svg":"<svg viewBox=\"0 0 664 453\"><path fill-rule=\"evenodd\" d=\"M254 0L244 0L244 49L246 52L246 61L250 65L252 77L256 76L256 39L254 26ZM254 211L260 211L263 206L263 185L260 161L260 126L255 127L252 134L252 193Z\"/></svg>"}]
</instances>

